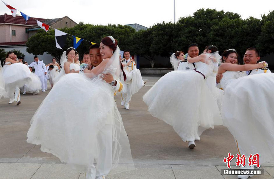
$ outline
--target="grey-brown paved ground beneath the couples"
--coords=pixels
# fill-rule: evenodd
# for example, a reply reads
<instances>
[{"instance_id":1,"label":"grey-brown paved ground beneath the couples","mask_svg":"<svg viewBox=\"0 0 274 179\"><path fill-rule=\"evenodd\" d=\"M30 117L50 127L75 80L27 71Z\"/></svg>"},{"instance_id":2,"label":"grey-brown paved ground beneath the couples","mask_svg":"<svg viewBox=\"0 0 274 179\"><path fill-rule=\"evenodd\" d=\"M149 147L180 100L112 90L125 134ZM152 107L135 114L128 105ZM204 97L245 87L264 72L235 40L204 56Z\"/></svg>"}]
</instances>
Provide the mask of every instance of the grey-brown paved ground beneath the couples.
<instances>
[{"instance_id":1,"label":"grey-brown paved ground beneath the couples","mask_svg":"<svg viewBox=\"0 0 274 179\"><path fill-rule=\"evenodd\" d=\"M227 153L237 153L234 138L225 127L206 130L196 148L190 150L171 126L147 112L142 96L159 78L143 76L146 86L133 95L130 110L120 105L121 95L115 97L128 133L135 170L108 178L237 178L220 174L220 169L226 168L223 158ZM46 93L21 95L19 106L9 105L7 99L0 102L0 179L85 178L83 172L72 172L57 157L41 152L40 146L26 143L30 119L49 91L50 87ZM264 176L252 178L273 178L274 163L262 166Z\"/></svg>"}]
</instances>

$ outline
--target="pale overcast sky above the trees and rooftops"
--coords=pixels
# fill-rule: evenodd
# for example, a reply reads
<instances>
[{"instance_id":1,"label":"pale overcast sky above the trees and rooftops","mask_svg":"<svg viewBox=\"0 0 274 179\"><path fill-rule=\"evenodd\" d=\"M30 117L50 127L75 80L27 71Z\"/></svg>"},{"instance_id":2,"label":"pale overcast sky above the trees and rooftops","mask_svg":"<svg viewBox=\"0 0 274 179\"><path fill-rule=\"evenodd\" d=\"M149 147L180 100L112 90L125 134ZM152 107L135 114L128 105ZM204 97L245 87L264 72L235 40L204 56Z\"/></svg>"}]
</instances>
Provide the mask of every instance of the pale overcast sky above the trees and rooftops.
<instances>
[{"instance_id":1,"label":"pale overcast sky above the trees and rooftops","mask_svg":"<svg viewBox=\"0 0 274 179\"><path fill-rule=\"evenodd\" d=\"M4 0L4 2L30 17L53 19L68 16L77 23L81 21L94 25L138 23L146 27L157 22L173 21L174 7L174 0ZM261 14L268 14L269 11L274 10L274 1L176 0L176 20L193 15L201 8L238 13L242 19L249 16L261 19ZM11 11L0 2L0 15L5 13L11 14Z\"/></svg>"}]
</instances>

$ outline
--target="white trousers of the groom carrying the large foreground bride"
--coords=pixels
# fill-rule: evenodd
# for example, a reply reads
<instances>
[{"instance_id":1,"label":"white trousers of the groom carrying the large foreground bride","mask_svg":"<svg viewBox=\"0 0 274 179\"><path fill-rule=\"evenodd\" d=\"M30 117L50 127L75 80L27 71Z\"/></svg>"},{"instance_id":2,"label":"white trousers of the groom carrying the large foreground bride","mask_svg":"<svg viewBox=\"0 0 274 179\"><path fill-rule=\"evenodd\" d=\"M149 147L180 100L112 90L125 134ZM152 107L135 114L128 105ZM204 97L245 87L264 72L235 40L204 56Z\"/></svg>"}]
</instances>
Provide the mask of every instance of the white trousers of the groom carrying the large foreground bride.
<instances>
[{"instance_id":1,"label":"white trousers of the groom carrying the large foreground bride","mask_svg":"<svg viewBox=\"0 0 274 179\"><path fill-rule=\"evenodd\" d=\"M86 172L86 179L97 179L107 175L112 166L112 125L105 125L97 134L100 153L96 167L91 166Z\"/></svg>"}]
</instances>

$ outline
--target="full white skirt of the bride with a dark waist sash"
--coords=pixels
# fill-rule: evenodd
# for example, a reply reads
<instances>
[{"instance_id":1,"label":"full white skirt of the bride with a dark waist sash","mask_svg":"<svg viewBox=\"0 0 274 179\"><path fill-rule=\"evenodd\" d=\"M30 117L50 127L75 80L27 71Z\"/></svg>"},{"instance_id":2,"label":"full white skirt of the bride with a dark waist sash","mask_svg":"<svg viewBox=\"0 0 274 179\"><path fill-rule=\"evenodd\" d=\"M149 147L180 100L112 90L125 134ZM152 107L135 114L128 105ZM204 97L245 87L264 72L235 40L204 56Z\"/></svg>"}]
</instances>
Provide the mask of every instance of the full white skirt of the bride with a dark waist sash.
<instances>
[{"instance_id":1,"label":"full white skirt of the bride with a dark waist sash","mask_svg":"<svg viewBox=\"0 0 274 179\"><path fill-rule=\"evenodd\" d=\"M143 96L148 111L184 140L195 140L203 131L221 125L217 103L204 77L195 71L172 71L164 75Z\"/></svg>"}]
</instances>

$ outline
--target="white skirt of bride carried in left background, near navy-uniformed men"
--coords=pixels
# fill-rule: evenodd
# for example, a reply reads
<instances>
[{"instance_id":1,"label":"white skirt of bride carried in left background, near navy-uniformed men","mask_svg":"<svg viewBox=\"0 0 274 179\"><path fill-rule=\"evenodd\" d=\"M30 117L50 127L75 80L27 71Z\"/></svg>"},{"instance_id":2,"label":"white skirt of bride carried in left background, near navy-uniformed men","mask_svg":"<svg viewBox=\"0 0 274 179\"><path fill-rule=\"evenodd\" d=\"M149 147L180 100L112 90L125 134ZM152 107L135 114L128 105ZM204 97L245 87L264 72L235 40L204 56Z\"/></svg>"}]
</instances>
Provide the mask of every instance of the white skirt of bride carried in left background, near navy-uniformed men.
<instances>
[{"instance_id":1,"label":"white skirt of bride carried in left background, near navy-uniformed men","mask_svg":"<svg viewBox=\"0 0 274 179\"><path fill-rule=\"evenodd\" d=\"M14 63L3 67L6 91L22 87L30 81L30 69L27 65Z\"/></svg>"}]
</instances>

